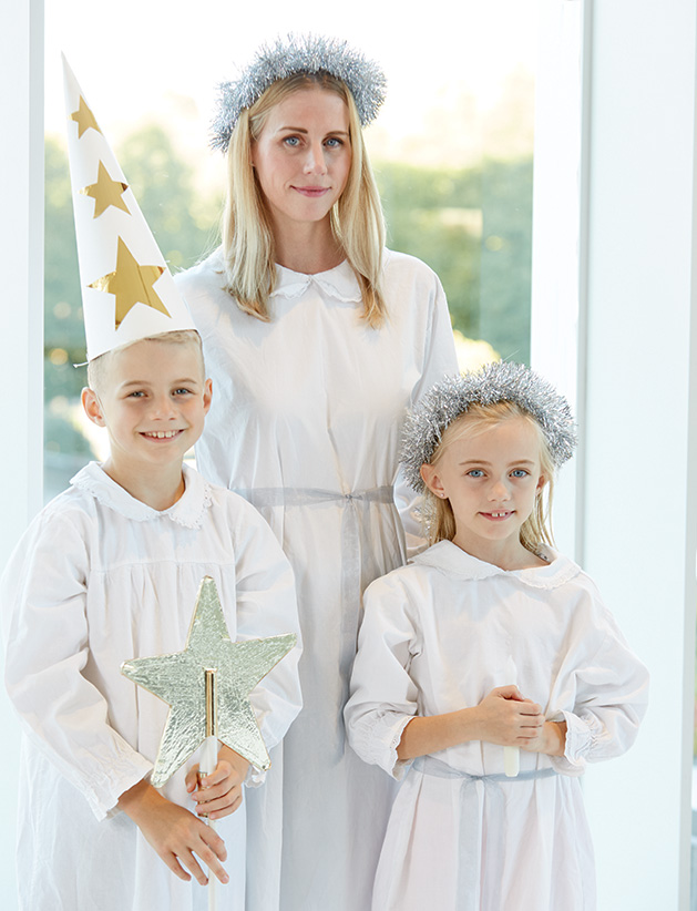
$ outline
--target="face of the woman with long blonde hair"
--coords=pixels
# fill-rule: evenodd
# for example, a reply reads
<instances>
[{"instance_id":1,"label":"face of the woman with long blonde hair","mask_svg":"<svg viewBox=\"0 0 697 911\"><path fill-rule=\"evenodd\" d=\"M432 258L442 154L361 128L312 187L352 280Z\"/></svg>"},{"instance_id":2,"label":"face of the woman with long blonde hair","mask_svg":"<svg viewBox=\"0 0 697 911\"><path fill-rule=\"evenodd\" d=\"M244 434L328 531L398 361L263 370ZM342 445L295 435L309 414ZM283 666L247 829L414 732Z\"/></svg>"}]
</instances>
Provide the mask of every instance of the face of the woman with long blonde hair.
<instances>
[{"instance_id":1,"label":"face of the woman with long blonde hair","mask_svg":"<svg viewBox=\"0 0 697 911\"><path fill-rule=\"evenodd\" d=\"M351 166L344 99L319 86L288 95L253 142L252 164L276 229L327 218Z\"/></svg>"}]
</instances>

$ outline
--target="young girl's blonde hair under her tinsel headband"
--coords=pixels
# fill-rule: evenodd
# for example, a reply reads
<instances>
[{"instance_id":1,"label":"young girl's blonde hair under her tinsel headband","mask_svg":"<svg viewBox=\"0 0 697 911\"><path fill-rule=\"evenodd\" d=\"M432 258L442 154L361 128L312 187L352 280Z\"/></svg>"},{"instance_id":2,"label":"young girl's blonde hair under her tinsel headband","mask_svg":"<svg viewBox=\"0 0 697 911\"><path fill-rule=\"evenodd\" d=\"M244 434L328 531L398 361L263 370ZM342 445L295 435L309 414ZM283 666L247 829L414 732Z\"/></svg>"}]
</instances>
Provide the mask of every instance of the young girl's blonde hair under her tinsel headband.
<instances>
[{"instance_id":1,"label":"young girl's blonde hair under her tinsel headband","mask_svg":"<svg viewBox=\"0 0 697 911\"><path fill-rule=\"evenodd\" d=\"M476 436L496 427L510 418L524 418L535 428L540 440L540 470L545 483L537 490L535 504L520 531L521 544L532 553L537 553L542 544L554 546L552 535L552 498L554 495L554 461L542 428L533 416L512 401L492 405L472 403L467 411L443 431L440 443L433 450L430 464L435 467L448 447L464 436ZM422 518L429 544L452 541L455 536L455 516L447 498L435 497L428 485L423 492Z\"/></svg>"}]
</instances>

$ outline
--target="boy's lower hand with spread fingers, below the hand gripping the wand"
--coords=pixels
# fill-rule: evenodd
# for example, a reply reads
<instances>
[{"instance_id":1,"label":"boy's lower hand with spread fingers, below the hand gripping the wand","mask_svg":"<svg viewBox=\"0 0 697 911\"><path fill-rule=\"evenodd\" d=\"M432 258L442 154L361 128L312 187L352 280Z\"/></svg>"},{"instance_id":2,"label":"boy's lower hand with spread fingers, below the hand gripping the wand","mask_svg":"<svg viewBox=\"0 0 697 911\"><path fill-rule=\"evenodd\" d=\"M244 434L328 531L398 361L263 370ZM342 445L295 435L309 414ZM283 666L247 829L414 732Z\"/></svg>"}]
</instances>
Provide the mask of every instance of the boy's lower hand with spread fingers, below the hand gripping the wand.
<instances>
[{"instance_id":1,"label":"boy's lower hand with spread fingers, below the hand gripping the wand","mask_svg":"<svg viewBox=\"0 0 697 911\"><path fill-rule=\"evenodd\" d=\"M202 886L208 883L207 876L196 860L197 856L221 882L229 881L221 863L227 858L223 839L188 810L163 797L147 781L139 781L122 794L119 807L131 817L180 879L188 881L193 873Z\"/></svg>"}]
</instances>

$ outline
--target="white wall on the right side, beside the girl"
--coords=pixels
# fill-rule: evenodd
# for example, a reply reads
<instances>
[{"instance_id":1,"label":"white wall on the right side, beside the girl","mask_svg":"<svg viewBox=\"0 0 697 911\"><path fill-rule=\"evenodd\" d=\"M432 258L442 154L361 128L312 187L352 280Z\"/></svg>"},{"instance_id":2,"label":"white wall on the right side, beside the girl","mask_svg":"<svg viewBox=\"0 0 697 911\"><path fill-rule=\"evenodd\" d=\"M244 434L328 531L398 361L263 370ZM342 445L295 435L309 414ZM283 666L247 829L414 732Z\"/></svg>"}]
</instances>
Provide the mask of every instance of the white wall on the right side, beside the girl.
<instances>
[{"instance_id":1,"label":"white wall on the right side, beside the girl","mask_svg":"<svg viewBox=\"0 0 697 911\"><path fill-rule=\"evenodd\" d=\"M577 245L578 262L576 552L652 673L636 747L586 776L599 909L687 909L697 602L696 10L694 0L543 2L557 19L562 7L576 7L586 29L578 222L557 239L563 255ZM547 114L563 124L562 110ZM558 300L566 317L550 332L551 301L543 299L553 199L540 214L551 247L535 245L534 364L564 381L568 346L554 331L573 331L574 315ZM563 216L557 229L567 227Z\"/></svg>"}]
</instances>

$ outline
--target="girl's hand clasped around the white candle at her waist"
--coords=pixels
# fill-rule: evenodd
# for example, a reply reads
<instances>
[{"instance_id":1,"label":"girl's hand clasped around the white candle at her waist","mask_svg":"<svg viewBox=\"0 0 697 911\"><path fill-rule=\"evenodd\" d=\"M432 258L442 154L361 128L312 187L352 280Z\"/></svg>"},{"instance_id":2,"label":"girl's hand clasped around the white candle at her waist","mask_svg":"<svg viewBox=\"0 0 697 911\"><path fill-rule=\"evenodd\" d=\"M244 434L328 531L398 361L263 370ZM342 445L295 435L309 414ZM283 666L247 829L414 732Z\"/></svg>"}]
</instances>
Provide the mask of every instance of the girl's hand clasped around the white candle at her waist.
<instances>
[{"instance_id":1,"label":"girl's hand clasped around the white candle at her waist","mask_svg":"<svg viewBox=\"0 0 697 911\"><path fill-rule=\"evenodd\" d=\"M476 739L502 747L525 749L539 740L544 727L542 708L525 699L516 686L495 687L469 710L474 713Z\"/></svg>"}]
</instances>

